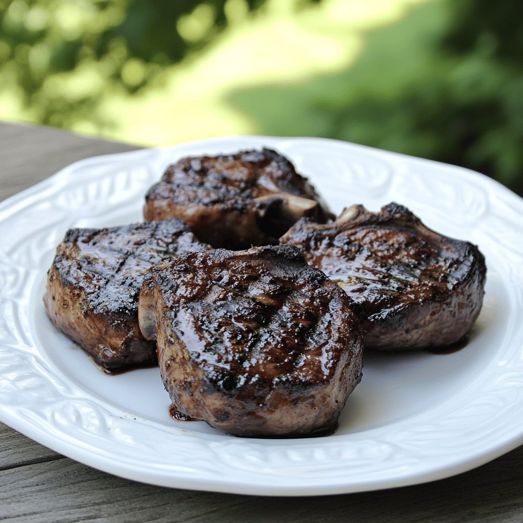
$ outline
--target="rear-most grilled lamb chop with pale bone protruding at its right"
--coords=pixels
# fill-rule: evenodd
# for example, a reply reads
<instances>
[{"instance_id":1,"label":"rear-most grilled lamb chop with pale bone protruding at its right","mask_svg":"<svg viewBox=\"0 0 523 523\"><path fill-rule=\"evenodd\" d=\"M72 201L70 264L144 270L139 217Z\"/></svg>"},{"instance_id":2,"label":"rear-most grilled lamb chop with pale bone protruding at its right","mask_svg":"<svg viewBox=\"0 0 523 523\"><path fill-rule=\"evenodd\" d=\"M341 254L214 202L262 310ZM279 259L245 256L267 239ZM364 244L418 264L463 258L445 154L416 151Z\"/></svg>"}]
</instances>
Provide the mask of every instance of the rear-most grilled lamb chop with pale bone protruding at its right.
<instances>
[{"instance_id":1,"label":"rear-most grilled lamb chop with pale bone protruding at its right","mask_svg":"<svg viewBox=\"0 0 523 523\"><path fill-rule=\"evenodd\" d=\"M314 188L275 151L189 157L145 196L145 220L184 220L213 247L277 244L299 218L333 218Z\"/></svg>"}]
</instances>

